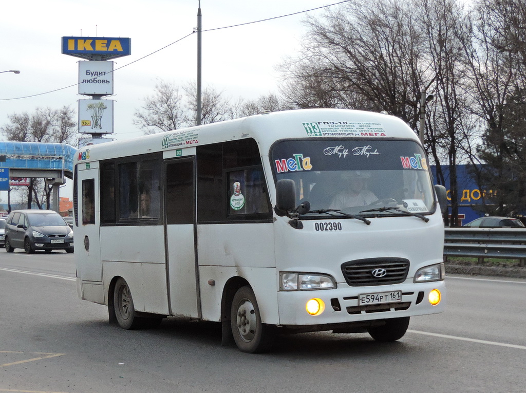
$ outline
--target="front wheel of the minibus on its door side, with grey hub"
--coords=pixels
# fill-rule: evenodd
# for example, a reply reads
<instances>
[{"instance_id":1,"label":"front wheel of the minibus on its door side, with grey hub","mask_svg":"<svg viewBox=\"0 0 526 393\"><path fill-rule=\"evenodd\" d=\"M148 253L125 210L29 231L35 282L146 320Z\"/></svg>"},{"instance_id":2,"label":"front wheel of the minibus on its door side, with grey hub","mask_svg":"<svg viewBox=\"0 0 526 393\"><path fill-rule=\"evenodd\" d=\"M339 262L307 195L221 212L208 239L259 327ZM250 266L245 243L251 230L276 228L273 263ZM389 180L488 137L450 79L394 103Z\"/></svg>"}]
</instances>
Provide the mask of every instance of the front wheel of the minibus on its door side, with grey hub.
<instances>
[{"instance_id":1,"label":"front wheel of the minibus on its door side, with grey hub","mask_svg":"<svg viewBox=\"0 0 526 393\"><path fill-rule=\"evenodd\" d=\"M256 296L249 286L239 288L234 295L230 308L230 327L241 352L264 352L270 349L274 341L272 327L261 323Z\"/></svg>"}]
</instances>

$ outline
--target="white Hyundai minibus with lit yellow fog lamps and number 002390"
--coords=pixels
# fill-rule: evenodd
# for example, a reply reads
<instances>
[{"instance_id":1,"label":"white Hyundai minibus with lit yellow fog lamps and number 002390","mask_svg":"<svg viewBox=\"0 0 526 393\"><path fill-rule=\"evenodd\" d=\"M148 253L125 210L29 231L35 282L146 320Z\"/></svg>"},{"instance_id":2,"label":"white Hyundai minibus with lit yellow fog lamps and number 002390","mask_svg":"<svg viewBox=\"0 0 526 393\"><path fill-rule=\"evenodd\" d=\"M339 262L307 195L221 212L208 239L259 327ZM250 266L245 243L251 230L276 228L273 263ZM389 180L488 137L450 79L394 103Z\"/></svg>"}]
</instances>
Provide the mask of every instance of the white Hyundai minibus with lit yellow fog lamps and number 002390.
<instances>
[{"instance_id":1,"label":"white Hyundai minibus with lit yellow fog lamps and number 002390","mask_svg":"<svg viewBox=\"0 0 526 393\"><path fill-rule=\"evenodd\" d=\"M444 309L445 189L402 120L261 114L87 146L77 291L124 329L217 321L223 344L332 330L400 339Z\"/></svg>"}]
</instances>

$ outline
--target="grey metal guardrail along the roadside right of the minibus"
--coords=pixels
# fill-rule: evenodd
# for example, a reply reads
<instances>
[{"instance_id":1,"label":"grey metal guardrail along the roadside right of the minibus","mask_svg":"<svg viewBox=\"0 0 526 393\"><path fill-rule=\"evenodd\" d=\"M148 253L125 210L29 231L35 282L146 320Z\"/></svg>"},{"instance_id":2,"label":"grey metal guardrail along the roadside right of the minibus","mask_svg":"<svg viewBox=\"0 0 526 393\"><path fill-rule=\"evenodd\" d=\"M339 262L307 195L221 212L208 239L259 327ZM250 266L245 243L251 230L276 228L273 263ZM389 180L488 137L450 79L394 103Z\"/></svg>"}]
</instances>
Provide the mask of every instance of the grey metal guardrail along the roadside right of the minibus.
<instances>
[{"instance_id":1,"label":"grey metal guardrail along the roadside right of the minibus","mask_svg":"<svg viewBox=\"0 0 526 393\"><path fill-rule=\"evenodd\" d=\"M518 259L526 266L526 228L446 228L444 257Z\"/></svg>"}]
</instances>

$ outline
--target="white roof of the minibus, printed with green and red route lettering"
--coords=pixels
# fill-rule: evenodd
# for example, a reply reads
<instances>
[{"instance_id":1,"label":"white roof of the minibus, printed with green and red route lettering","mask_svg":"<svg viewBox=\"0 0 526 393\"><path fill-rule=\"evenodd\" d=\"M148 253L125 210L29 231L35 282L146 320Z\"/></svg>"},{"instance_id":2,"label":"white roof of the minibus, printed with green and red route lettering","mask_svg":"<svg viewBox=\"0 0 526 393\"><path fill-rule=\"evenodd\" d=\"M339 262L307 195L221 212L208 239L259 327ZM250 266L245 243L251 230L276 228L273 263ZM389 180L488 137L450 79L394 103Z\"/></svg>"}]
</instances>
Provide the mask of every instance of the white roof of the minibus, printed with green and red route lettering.
<instances>
[{"instance_id":1,"label":"white roof of the minibus, printed with green and red route lettering","mask_svg":"<svg viewBox=\"0 0 526 393\"><path fill-rule=\"evenodd\" d=\"M416 133L401 119L352 109L297 109L189 127L133 139L86 146L76 162L164 152L210 143L254 138L262 155L287 138L406 138Z\"/></svg>"}]
</instances>

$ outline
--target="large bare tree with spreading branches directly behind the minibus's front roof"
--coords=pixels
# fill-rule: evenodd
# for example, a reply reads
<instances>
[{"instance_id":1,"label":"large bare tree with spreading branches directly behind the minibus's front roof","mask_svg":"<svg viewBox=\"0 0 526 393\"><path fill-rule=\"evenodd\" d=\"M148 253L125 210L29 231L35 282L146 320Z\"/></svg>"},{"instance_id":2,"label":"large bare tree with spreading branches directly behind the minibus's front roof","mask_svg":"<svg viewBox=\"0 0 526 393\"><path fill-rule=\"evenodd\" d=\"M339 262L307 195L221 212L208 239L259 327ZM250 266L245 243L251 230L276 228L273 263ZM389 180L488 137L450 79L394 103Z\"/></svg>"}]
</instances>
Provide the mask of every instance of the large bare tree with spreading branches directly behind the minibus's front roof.
<instances>
[{"instance_id":1,"label":"large bare tree with spreading branches directly behind the minibus's front roof","mask_svg":"<svg viewBox=\"0 0 526 393\"><path fill-rule=\"evenodd\" d=\"M282 88L298 105L386 111L413 128L424 78L422 36L413 4L396 0L352 0L306 21L301 54L285 63ZM305 105L307 104L307 105Z\"/></svg>"}]
</instances>

